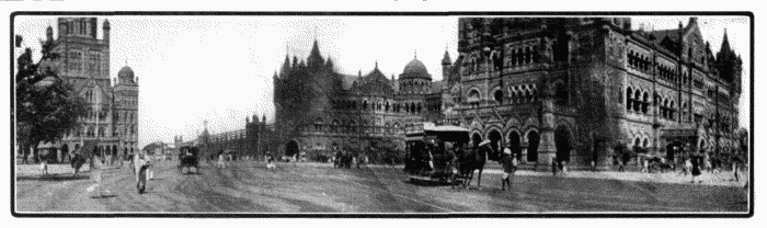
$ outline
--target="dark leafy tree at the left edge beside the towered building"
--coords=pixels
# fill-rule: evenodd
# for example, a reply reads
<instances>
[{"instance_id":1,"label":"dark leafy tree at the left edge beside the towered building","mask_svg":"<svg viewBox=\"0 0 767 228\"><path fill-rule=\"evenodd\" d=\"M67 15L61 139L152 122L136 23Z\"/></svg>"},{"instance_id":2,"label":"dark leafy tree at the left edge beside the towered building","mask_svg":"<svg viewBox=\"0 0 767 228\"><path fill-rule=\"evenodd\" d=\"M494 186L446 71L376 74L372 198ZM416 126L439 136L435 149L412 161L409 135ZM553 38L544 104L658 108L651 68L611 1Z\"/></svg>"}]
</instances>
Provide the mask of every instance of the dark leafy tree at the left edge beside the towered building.
<instances>
[{"instance_id":1,"label":"dark leafy tree at the left edge beside the towered building","mask_svg":"<svg viewBox=\"0 0 767 228\"><path fill-rule=\"evenodd\" d=\"M87 114L85 101L50 67L59 58L53 50L53 41L41 43L42 57L37 62L32 59L30 48L16 59L15 112L12 113L16 117L16 144L23 151L24 162L30 148L38 162L37 145L61 139Z\"/></svg>"}]
</instances>

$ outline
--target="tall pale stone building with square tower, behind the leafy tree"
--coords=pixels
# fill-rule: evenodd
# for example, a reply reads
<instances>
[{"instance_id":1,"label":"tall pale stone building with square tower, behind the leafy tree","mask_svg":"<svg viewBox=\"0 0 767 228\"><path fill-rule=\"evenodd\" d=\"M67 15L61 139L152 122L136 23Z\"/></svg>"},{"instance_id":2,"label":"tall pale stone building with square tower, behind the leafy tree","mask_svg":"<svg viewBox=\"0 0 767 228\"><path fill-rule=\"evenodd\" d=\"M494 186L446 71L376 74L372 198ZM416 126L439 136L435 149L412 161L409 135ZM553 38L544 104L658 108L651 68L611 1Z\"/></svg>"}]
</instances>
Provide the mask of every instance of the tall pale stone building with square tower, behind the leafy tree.
<instances>
[{"instance_id":1,"label":"tall pale stone building with square tower, behind the leafy tree","mask_svg":"<svg viewBox=\"0 0 767 228\"><path fill-rule=\"evenodd\" d=\"M96 18L59 18L57 22L56 38L50 26L46 38L54 41L59 58L46 66L75 84L88 102L88 116L55 147L66 155L84 141L94 141L95 147L88 150L113 155L138 151L138 77L125 66L111 79L110 22L103 22L102 38L98 37Z\"/></svg>"}]
</instances>

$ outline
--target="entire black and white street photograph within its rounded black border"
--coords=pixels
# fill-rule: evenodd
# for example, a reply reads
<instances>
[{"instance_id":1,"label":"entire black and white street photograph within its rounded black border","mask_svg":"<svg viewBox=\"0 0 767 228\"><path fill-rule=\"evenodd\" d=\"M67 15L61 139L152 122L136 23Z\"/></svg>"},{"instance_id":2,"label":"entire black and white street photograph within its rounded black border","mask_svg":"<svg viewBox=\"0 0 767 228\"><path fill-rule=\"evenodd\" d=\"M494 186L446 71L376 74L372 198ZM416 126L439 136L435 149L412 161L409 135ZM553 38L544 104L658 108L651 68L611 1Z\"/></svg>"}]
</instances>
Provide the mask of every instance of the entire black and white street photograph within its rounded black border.
<instances>
[{"instance_id":1,"label":"entire black and white street photograph within its rounded black border","mask_svg":"<svg viewBox=\"0 0 767 228\"><path fill-rule=\"evenodd\" d=\"M748 12L5 16L15 217L753 216Z\"/></svg>"}]
</instances>

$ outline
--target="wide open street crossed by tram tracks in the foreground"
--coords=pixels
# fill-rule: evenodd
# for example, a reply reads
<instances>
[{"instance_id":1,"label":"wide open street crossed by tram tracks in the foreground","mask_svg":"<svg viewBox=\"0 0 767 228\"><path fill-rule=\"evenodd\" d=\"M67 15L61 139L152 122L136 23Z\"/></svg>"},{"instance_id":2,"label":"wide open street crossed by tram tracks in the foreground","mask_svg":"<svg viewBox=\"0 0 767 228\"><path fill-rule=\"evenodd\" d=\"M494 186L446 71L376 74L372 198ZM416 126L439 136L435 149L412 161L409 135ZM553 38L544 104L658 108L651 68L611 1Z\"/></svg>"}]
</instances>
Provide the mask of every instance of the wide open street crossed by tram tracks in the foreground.
<instances>
[{"instance_id":1,"label":"wide open street crossed by tram tracks in the foreground","mask_svg":"<svg viewBox=\"0 0 767 228\"><path fill-rule=\"evenodd\" d=\"M129 169L104 171L108 197L91 198L90 172L72 179L41 176L37 166L18 164L16 212L67 213L559 213L559 212L747 212L742 184L709 176L703 184L674 174L520 171L512 191L501 192L500 171L485 170L482 189L415 185L400 168L334 169L321 163L277 163L275 171L253 161L225 169L204 164L182 175L174 161L153 167L148 192L138 194ZM70 170L67 170L70 169ZM718 180L722 179L722 180ZM654 180L654 181L653 181ZM678 183L676 183L678 182ZM721 183L720 183L721 182ZM476 181L472 183L476 185Z\"/></svg>"}]
</instances>

